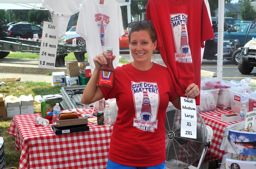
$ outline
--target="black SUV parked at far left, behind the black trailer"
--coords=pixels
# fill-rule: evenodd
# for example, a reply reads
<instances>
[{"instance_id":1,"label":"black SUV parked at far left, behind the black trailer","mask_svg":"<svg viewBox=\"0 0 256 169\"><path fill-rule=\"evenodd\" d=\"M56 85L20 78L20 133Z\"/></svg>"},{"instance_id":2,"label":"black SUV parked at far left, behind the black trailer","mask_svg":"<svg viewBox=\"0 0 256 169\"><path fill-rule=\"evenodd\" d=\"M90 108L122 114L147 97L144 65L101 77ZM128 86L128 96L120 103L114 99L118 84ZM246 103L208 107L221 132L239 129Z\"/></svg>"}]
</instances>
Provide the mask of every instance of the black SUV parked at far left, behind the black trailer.
<instances>
[{"instance_id":1,"label":"black SUV parked at far left, behind the black trailer","mask_svg":"<svg viewBox=\"0 0 256 169\"><path fill-rule=\"evenodd\" d=\"M34 34L42 37L43 29L32 24L16 24L9 30L9 37L14 38L34 38Z\"/></svg>"}]
</instances>

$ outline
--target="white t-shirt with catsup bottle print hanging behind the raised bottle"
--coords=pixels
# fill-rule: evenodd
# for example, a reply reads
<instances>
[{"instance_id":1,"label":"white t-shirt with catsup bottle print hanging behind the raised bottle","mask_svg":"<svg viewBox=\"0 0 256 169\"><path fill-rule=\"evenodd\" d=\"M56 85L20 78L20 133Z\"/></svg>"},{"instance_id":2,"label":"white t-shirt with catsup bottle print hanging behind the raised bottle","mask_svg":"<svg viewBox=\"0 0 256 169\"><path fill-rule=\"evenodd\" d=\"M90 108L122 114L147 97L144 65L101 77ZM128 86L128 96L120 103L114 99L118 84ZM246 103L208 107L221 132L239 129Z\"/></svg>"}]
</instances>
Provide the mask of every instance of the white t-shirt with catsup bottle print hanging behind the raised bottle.
<instances>
[{"instance_id":1,"label":"white t-shirt with catsup bottle print hanging behind the raised bottle","mask_svg":"<svg viewBox=\"0 0 256 169\"><path fill-rule=\"evenodd\" d=\"M113 48L116 55L113 66L119 64L119 37L124 35L122 13L118 2L114 0L85 0L80 8L77 20L76 33L80 34L86 42L86 50L91 71L95 65L93 58L106 50Z\"/></svg>"}]
</instances>

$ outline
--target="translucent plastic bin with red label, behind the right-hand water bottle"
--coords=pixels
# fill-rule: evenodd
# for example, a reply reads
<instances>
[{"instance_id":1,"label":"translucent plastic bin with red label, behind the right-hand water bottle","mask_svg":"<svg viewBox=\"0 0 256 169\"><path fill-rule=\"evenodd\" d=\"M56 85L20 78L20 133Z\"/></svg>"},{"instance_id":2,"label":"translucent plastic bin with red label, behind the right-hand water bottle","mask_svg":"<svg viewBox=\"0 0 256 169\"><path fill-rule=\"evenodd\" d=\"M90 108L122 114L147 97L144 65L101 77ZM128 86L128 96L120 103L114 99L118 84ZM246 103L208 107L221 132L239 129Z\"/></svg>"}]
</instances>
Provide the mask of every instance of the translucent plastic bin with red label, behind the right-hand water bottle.
<instances>
[{"instance_id":1,"label":"translucent plastic bin with red label, behind the right-hand water bottle","mask_svg":"<svg viewBox=\"0 0 256 169\"><path fill-rule=\"evenodd\" d=\"M248 91L248 94L245 94L245 91ZM249 97L256 97L256 87L247 87L247 88L233 88L230 90L230 103L231 110L235 113L240 113L240 109L243 105L246 105L247 110L249 110Z\"/></svg>"}]
</instances>

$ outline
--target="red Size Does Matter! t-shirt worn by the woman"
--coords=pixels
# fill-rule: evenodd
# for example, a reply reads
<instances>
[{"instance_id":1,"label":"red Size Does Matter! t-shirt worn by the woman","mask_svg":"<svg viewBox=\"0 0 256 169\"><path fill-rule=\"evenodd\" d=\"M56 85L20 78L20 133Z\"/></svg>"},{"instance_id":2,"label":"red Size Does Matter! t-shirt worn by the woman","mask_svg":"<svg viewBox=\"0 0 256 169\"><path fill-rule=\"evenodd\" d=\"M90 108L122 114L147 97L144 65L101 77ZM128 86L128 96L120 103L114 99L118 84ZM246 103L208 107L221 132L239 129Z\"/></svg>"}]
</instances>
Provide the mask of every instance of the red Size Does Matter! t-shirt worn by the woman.
<instances>
[{"instance_id":1,"label":"red Size Does Matter! t-shirt worn by the woman","mask_svg":"<svg viewBox=\"0 0 256 169\"><path fill-rule=\"evenodd\" d=\"M141 71L130 63L117 67L114 79L112 88L100 88L105 100L116 98L119 108L109 159L135 167L163 163L166 108L178 96L168 69L154 63Z\"/></svg>"}]
</instances>

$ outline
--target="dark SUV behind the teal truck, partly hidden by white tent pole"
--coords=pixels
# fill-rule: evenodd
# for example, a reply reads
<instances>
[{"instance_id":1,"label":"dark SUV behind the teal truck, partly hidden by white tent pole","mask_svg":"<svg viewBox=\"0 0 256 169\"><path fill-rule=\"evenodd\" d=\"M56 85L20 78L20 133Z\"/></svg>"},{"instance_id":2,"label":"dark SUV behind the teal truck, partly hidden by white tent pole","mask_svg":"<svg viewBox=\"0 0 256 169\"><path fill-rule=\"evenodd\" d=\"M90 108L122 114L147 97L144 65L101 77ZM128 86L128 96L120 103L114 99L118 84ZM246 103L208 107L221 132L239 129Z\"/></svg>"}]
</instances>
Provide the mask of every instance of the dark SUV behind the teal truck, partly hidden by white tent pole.
<instances>
[{"instance_id":1,"label":"dark SUV behind the teal truck, partly hidden by white tent pole","mask_svg":"<svg viewBox=\"0 0 256 169\"><path fill-rule=\"evenodd\" d=\"M212 24L213 24L213 32L218 32L218 17L211 17ZM240 19L235 19L235 18L224 18L224 31L229 29L233 24L241 24Z\"/></svg>"}]
</instances>

